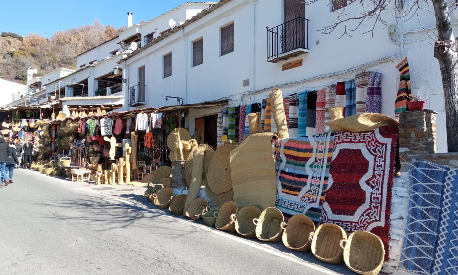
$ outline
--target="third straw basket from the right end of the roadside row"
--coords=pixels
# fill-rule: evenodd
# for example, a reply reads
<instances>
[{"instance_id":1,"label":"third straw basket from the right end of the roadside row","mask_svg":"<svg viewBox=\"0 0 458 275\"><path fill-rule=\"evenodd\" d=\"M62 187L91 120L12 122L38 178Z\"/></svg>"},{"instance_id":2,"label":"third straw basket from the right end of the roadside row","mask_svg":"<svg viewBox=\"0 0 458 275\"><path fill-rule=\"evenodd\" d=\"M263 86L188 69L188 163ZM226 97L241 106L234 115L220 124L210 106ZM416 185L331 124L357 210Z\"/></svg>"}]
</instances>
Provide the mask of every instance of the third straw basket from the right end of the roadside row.
<instances>
[{"instance_id":1,"label":"third straw basket from the right end of the roadside row","mask_svg":"<svg viewBox=\"0 0 458 275\"><path fill-rule=\"evenodd\" d=\"M315 232L315 224L304 214L296 214L281 224L285 247L297 251L308 251L311 247L310 233Z\"/></svg>"}]
</instances>

